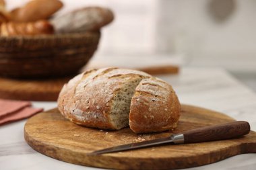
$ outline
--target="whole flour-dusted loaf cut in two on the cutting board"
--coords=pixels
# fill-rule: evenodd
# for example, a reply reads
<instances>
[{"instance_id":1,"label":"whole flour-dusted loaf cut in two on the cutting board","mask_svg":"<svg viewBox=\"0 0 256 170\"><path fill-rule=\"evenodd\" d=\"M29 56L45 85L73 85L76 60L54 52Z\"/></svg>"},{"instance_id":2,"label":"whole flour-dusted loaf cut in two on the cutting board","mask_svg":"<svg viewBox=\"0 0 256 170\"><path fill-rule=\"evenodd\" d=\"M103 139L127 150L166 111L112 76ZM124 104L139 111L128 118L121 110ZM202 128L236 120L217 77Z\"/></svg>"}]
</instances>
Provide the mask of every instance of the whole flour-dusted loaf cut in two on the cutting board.
<instances>
[{"instance_id":1,"label":"whole flour-dusted loaf cut in two on the cutting board","mask_svg":"<svg viewBox=\"0 0 256 170\"><path fill-rule=\"evenodd\" d=\"M63 86L58 108L76 124L109 130L130 126L135 133L176 128L179 99L168 83L141 71L86 71Z\"/></svg>"}]
</instances>

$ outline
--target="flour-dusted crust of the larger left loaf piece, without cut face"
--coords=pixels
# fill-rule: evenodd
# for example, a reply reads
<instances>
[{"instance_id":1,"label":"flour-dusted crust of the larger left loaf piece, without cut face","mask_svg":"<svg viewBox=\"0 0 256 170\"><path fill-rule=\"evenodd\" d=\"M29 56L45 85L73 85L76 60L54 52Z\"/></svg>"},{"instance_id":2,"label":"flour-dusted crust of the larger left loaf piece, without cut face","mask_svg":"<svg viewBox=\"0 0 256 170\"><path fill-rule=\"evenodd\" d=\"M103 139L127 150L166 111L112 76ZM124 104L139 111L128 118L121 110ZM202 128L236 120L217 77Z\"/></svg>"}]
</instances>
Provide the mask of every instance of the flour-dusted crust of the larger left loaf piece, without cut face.
<instances>
[{"instance_id":1,"label":"flour-dusted crust of the larger left loaf piece, without cut face","mask_svg":"<svg viewBox=\"0 0 256 170\"><path fill-rule=\"evenodd\" d=\"M115 93L120 91L129 78L150 77L141 71L105 68L91 70L71 79L64 85L58 98L58 107L76 124L101 129L117 130L111 120Z\"/></svg>"}]
</instances>

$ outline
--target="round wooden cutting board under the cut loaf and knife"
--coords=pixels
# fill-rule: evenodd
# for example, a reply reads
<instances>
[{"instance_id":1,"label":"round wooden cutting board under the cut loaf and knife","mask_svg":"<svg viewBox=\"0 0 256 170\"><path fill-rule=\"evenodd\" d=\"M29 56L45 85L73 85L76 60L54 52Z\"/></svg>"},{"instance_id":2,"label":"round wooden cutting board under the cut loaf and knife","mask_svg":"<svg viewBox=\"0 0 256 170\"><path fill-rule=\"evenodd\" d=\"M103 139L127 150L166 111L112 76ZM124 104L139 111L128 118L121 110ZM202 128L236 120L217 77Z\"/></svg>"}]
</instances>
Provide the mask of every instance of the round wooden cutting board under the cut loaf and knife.
<instances>
[{"instance_id":1,"label":"round wooden cutting board under the cut loaf and knife","mask_svg":"<svg viewBox=\"0 0 256 170\"><path fill-rule=\"evenodd\" d=\"M234 121L203 108L182 105L181 119L173 133ZM172 132L134 134L123 130L85 128L65 120L57 109L33 116L24 136L34 150L69 163L109 169L181 169L215 163L243 153L256 153L256 132L232 140L164 145L134 151L88 156L98 149L169 136Z\"/></svg>"}]
</instances>

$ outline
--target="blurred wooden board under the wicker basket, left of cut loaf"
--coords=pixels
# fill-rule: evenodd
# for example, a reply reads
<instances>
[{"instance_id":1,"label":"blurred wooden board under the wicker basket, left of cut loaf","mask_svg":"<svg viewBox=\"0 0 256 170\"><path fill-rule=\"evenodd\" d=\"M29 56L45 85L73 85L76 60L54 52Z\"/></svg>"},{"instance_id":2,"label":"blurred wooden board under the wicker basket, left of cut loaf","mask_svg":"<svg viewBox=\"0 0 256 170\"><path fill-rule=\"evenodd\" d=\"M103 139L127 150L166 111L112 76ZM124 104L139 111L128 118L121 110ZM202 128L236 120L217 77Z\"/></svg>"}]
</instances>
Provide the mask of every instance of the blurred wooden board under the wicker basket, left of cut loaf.
<instances>
[{"instance_id":1,"label":"blurred wooden board under the wicker basket, left of cut loaf","mask_svg":"<svg viewBox=\"0 0 256 170\"><path fill-rule=\"evenodd\" d=\"M7 79L0 78L0 97L30 101L56 101L63 85L71 77L58 79Z\"/></svg>"}]
</instances>

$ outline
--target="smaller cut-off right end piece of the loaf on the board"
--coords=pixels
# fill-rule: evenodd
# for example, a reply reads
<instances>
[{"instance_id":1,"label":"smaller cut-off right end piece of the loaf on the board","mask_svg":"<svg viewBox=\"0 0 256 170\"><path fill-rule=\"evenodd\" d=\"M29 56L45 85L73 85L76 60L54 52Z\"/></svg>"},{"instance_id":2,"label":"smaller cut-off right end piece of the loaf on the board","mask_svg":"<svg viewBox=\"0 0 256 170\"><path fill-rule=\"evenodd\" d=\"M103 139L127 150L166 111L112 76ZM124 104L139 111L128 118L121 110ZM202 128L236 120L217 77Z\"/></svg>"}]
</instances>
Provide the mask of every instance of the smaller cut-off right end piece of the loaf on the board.
<instances>
[{"instance_id":1,"label":"smaller cut-off right end piece of the loaf on the board","mask_svg":"<svg viewBox=\"0 0 256 170\"><path fill-rule=\"evenodd\" d=\"M172 130L180 115L181 104L168 83L154 77L141 80L131 99L129 126L133 132Z\"/></svg>"}]
</instances>

